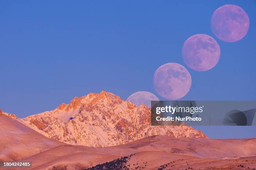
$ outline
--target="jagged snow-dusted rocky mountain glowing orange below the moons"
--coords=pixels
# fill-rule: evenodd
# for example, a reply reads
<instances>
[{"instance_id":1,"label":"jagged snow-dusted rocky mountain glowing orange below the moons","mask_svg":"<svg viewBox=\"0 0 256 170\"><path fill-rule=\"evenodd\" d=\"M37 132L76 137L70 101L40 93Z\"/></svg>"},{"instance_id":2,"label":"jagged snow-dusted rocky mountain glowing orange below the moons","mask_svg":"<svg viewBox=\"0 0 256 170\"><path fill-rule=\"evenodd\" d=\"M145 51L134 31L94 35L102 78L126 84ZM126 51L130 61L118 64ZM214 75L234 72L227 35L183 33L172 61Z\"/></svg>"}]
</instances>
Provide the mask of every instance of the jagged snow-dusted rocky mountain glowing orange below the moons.
<instances>
[{"instance_id":1,"label":"jagged snow-dusted rocky mountain glowing orange below the moons","mask_svg":"<svg viewBox=\"0 0 256 170\"><path fill-rule=\"evenodd\" d=\"M151 126L150 114L145 105L136 106L102 91L18 121L51 139L88 147L121 145L157 134L206 137L188 126Z\"/></svg>"}]
</instances>

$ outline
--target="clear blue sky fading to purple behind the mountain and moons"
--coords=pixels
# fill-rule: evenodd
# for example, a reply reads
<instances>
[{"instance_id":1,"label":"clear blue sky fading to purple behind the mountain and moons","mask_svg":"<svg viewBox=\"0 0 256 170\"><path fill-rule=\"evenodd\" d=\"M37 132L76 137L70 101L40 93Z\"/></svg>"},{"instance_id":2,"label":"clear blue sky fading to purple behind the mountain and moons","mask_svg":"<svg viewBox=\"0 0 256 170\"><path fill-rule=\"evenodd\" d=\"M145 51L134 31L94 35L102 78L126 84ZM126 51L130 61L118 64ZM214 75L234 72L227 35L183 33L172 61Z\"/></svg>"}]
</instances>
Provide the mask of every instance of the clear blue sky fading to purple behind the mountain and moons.
<instances>
[{"instance_id":1,"label":"clear blue sky fading to purple behind the mountain and moons","mask_svg":"<svg viewBox=\"0 0 256 170\"><path fill-rule=\"evenodd\" d=\"M241 41L226 43L211 31L212 13L225 4L250 18ZM198 33L220 45L220 61L210 71L193 71L182 61L184 41ZM90 92L122 99L136 91L156 94L154 71L169 62L192 76L182 100L256 100L255 41L255 0L1 1L0 109L26 117ZM198 129L214 138L256 137L256 127Z\"/></svg>"}]
</instances>

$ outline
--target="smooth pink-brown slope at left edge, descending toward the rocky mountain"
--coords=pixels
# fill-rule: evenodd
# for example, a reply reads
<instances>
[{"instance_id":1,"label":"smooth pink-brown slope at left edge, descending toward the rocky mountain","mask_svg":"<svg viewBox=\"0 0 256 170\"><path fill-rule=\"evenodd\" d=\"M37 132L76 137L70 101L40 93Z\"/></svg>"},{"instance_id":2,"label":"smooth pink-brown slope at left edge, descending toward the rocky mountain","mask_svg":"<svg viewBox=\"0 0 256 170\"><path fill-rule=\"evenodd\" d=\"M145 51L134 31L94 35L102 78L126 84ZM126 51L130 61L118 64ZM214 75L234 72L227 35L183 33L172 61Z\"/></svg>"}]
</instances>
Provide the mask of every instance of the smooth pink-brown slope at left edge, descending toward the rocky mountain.
<instances>
[{"instance_id":1,"label":"smooth pink-brown slope at left edge, descending toward the rocky mountain","mask_svg":"<svg viewBox=\"0 0 256 170\"><path fill-rule=\"evenodd\" d=\"M0 110L0 161L18 160L59 145L65 144L39 134Z\"/></svg>"}]
</instances>

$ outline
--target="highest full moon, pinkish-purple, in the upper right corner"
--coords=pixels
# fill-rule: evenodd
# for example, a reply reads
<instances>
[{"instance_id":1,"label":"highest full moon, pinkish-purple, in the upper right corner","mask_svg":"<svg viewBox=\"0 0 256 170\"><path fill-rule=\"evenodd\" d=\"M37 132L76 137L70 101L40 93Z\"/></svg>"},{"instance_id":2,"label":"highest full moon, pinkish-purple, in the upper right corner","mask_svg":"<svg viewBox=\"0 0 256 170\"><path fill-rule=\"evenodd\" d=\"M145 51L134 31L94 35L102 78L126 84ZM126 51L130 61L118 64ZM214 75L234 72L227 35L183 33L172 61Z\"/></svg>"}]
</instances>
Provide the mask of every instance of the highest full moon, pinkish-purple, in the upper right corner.
<instances>
[{"instance_id":1,"label":"highest full moon, pinkish-purple, in the upper right corner","mask_svg":"<svg viewBox=\"0 0 256 170\"><path fill-rule=\"evenodd\" d=\"M212 14L211 28L220 40L236 42L246 35L249 23L249 17L241 7L223 5Z\"/></svg>"}]
</instances>

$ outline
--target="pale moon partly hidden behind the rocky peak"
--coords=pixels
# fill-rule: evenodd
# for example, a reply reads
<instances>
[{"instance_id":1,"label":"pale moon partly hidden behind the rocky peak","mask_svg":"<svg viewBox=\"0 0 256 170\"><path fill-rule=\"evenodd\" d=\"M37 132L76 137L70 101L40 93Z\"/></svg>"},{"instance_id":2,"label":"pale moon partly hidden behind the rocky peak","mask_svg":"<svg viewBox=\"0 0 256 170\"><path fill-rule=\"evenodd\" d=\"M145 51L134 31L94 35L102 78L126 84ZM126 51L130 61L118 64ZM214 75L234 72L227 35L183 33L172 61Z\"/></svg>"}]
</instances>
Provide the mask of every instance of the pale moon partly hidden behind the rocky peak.
<instances>
[{"instance_id":1,"label":"pale moon partly hidden behind the rocky peak","mask_svg":"<svg viewBox=\"0 0 256 170\"><path fill-rule=\"evenodd\" d=\"M136 105L145 104L147 107L151 107L151 100L158 101L159 99L148 91L138 91L131 94L127 100Z\"/></svg>"}]
</instances>

